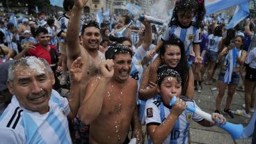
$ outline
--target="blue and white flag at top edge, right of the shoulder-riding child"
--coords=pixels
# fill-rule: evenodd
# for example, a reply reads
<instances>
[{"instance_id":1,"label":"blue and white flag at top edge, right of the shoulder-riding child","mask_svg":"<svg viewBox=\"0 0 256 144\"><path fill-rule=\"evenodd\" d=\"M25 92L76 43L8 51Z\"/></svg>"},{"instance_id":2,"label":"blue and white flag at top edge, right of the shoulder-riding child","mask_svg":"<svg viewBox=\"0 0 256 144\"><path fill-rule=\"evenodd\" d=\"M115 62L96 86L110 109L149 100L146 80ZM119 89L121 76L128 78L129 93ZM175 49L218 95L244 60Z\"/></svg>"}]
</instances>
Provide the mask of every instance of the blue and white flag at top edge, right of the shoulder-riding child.
<instances>
[{"instance_id":1,"label":"blue and white flag at top edge, right of the shoulder-riding child","mask_svg":"<svg viewBox=\"0 0 256 144\"><path fill-rule=\"evenodd\" d=\"M206 15L249 1L251 0L205 0Z\"/></svg>"}]
</instances>

